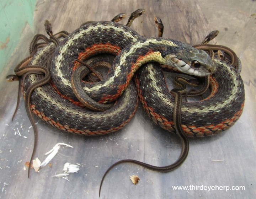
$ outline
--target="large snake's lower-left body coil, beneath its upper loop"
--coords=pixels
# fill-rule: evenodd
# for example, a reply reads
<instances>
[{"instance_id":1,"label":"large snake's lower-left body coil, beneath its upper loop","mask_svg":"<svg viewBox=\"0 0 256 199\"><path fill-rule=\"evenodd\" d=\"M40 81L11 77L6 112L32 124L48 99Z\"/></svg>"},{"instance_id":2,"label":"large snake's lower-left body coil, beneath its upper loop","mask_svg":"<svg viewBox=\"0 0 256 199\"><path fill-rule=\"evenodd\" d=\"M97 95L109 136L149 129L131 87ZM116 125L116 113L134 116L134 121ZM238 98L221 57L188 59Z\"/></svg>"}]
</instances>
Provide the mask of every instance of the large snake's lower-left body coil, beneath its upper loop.
<instances>
[{"instance_id":1,"label":"large snake's lower-left body coil, beneath its upper loop","mask_svg":"<svg viewBox=\"0 0 256 199\"><path fill-rule=\"evenodd\" d=\"M46 65L48 55L52 54L55 48L54 44L43 48L34 56L31 64ZM29 87L40 78L40 75L30 75L26 79L25 87ZM32 111L39 118L61 130L84 135L102 135L120 129L133 117L137 103L136 91L130 87L114 106L105 112L94 112L76 106L58 95L50 84L36 88L31 96ZM129 114L123 115L123 112ZM123 117L119 117L120 114Z\"/></svg>"}]
</instances>

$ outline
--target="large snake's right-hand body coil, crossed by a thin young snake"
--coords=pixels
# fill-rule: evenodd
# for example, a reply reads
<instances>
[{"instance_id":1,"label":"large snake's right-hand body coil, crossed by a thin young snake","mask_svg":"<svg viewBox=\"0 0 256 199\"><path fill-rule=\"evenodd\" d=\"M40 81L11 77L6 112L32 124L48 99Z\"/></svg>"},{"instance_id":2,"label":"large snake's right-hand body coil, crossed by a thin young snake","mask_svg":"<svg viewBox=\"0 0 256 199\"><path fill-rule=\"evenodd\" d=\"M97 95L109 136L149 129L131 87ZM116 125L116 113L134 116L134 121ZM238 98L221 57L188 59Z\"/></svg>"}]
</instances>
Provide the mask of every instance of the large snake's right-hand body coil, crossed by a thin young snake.
<instances>
[{"instance_id":1,"label":"large snake's right-hand body coil, crossed by a thin young snake","mask_svg":"<svg viewBox=\"0 0 256 199\"><path fill-rule=\"evenodd\" d=\"M183 102L181 105L182 128L189 137L214 135L228 129L238 120L244 107L245 93L241 76L225 62L214 61L218 67L210 76L210 95L202 101ZM157 86L165 84L159 66L151 64L139 69L135 82L140 102L149 117L160 127L174 132L174 98L167 86ZM154 106L154 102L160 100L164 103Z\"/></svg>"}]
</instances>

